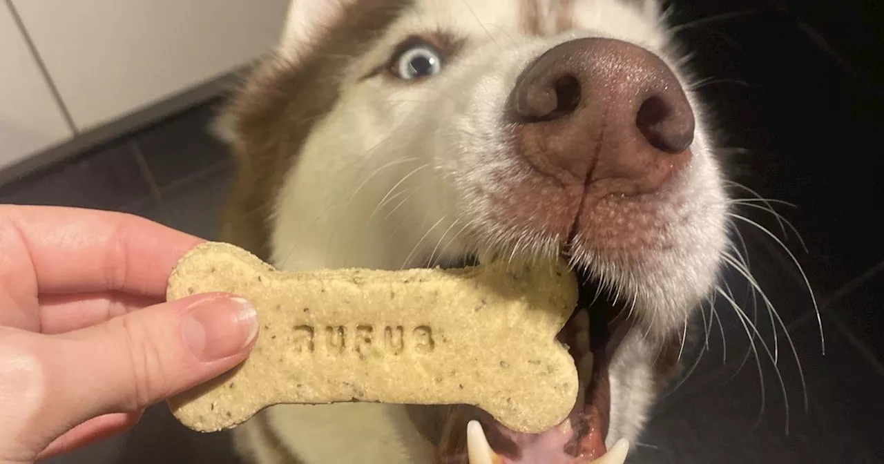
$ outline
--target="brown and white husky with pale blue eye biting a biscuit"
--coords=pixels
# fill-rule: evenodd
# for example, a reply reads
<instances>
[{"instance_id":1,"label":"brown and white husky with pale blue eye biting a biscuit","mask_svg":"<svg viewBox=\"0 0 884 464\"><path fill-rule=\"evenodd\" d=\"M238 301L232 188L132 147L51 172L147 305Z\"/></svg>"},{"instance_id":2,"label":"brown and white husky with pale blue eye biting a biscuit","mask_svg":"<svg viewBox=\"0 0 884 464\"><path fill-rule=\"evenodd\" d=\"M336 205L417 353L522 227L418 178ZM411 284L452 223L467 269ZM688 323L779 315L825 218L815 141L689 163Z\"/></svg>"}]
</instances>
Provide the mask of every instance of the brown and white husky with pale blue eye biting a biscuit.
<instances>
[{"instance_id":1,"label":"brown and white husky with pale blue eye biting a biscuit","mask_svg":"<svg viewBox=\"0 0 884 464\"><path fill-rule=\"evenodd\" d=\"M294 0L225 116L222 239L283 270L565 256L582 387L537 435L467 406L271 407L235 431L243 457L622 462L729 246L689 83L656 0Z\"/></svg>"}]
</instances>

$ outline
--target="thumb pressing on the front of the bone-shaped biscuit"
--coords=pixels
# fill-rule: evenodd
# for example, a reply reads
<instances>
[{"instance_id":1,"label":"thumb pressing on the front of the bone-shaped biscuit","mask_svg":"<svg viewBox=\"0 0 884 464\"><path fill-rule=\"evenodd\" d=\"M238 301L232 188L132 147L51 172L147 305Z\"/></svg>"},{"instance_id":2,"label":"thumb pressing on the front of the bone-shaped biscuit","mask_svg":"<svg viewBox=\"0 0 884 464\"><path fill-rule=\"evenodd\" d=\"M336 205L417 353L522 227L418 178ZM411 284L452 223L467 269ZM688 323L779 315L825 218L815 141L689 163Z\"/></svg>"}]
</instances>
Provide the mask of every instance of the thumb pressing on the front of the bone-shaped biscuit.
<instances>
[{"instance_id":1,"label":"thumb pressing on the front of the bone-shaped biscuit","mask_svg":"<svg viewBox=\"0 0 884 464\"><path fill-rule=\"evenodd\" d=\"M44 430L51 439L98 415L148 407L245 360L257 331L246 300L208 294L52 337L40 355L49 415L35 423L61 426Z\"/></svg>"}]
</instances>

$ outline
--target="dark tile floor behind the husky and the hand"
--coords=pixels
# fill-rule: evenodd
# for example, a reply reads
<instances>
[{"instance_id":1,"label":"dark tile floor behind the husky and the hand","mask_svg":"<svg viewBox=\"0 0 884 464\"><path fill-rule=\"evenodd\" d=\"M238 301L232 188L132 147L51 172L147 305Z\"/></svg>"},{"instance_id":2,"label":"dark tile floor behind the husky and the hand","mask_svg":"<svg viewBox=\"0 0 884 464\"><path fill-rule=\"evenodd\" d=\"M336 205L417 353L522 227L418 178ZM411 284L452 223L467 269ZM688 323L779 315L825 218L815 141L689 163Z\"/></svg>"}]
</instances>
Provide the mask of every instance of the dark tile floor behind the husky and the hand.
<instances>
[{"instance_id":1,"label":"dark tile floor behind the husky and the hand","mask_svg":"<svg viewBox=\"0 0 884 464\"><path fill-rule=\"evenodd\" d=\"M737 221L752 273L781 320L760 298L754 305L746 279L730 270L728 286L746 319L724 297L714 316L705 309L709 335L684 354L690 375L659 403L631 462L884 462L884 241L870 214L884 200L884 157L875 148L884 133L881 93L781 12L696 23L680 35L697 52L698 74L712 79L702 91L727 134L721 143L731 148L732 178L797 205L777 209L807 251L789 229L783 242L815 290L826 353L791 257L766 232ZM225 149L207 131L215 105L0 186L0 202L125 210L212 239L231 178ZM773 216L740 212L783 237ZM754 332L746 320L759 336L747 336ZM52 461L225 463L229 456L224 435L188 432L154 407L126 436Z\"/></svg>"}]
</instances>

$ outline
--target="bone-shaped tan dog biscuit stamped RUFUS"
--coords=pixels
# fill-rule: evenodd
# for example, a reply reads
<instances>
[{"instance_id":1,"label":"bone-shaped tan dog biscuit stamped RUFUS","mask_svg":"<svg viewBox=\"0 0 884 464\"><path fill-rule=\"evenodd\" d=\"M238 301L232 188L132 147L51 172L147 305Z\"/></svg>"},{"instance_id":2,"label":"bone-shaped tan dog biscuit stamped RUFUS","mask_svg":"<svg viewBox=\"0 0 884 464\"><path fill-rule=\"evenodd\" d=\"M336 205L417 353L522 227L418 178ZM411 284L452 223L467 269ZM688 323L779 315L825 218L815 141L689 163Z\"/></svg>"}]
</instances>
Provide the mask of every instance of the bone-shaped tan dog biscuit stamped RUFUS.
<instances>
[{"instance_id":1,"label":"bone-shaped tan dog biscuit stamped RUFUS","mask_svg":"<svg viewBox=\"0 0 884 464\"><path fill-rule=\"evenodd\" d=\"M206 243L181 259L168 299L229 292L261 330L240 366L171 399L205 432L277 404L469 404L511 430L541 432L575 404L577 371L555 338L577 300L564 262L464 270L280 272Z\"/></svg>"}]
</instances>

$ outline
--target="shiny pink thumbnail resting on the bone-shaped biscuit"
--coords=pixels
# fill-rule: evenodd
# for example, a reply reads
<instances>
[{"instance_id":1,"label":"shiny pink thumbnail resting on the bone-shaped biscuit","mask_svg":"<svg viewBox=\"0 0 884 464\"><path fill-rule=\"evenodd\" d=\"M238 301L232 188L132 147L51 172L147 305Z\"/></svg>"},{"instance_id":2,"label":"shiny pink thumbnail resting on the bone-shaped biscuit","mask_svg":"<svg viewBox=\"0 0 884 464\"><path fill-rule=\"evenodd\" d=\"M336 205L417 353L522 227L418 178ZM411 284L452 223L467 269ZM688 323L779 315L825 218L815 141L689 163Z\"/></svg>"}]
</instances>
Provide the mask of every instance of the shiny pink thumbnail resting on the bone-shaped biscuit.
<instances>
[{"instance_id":1,"label":"shiny pink thumbnail resting on the bone-shaped biscuit","mask_svg":"<svg viewBox=\"0 0 884 464\"><path fill-rule=\"evenodd\" d=\"M238 354L258 334L258 314L241 298L208 300L193 308L181 323L190 351L200 361Z\"/></svg>"}]
</instances>

